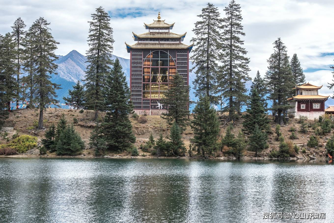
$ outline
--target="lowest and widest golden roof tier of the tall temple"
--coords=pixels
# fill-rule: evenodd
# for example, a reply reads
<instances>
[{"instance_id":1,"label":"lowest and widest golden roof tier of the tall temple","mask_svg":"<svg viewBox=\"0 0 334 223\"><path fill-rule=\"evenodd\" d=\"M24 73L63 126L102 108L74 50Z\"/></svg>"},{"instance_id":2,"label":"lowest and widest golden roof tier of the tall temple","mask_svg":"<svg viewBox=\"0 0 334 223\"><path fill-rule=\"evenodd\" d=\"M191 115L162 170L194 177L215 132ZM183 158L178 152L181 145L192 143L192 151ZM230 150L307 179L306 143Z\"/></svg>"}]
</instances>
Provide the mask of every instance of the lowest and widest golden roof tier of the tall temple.
<instances>
[{"instance_id":1,"label":"lowest and widest golden roof tier of the tall temple","mask_svg":"<svg viewBox=\"0 0 334 223\"><path fill-rule=\"evenodd\" d=\"M182 42L136 42L129 45L125 42L127 48L133 49L187 49L194 45L187 45Z\"/></svg>"}]
</instances>

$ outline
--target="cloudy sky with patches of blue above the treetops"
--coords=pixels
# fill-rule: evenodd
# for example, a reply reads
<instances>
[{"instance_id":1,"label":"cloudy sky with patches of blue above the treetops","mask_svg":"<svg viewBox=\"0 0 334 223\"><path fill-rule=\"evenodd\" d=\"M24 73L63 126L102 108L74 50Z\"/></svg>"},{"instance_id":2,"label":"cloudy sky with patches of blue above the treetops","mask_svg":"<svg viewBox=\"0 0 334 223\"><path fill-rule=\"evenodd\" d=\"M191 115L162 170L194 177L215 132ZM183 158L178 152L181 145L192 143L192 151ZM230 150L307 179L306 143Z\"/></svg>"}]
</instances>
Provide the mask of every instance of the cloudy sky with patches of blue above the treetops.
<instances>
[{"instance_id":1,"label":"cloudy sky with patches of blue above the treetops","mask_svg":"<svg viewBox=\"0 0 334 223\"><path fill-rule=\"evenodd\" d=\"M221 16L228 0L210 1L219 8ZM196 15L206 6L200 0L0 0L0 33L11 31L10 26L21 17L30 26L39 16L50 22L54 38L60 42L57 54L65 55L72 49L85 54L90 15L103 6L111 16L114 29L114 54L129 58L125 44L133 43L132 31L146 32L143 22L156 19L158 11L167 23L175 22L173 32L187 32L184 43L189 44ZM267 59L273 52L272 43L281 37L290 56L297 53L307 81L327 85L334 64L334 1L333 0L237 0L242 9L242 25L246 36L245 48L251 58L250 76L257 70L263 76ZM323 95L332 95L324 87Z\"/></svg>"}]
</instances>

